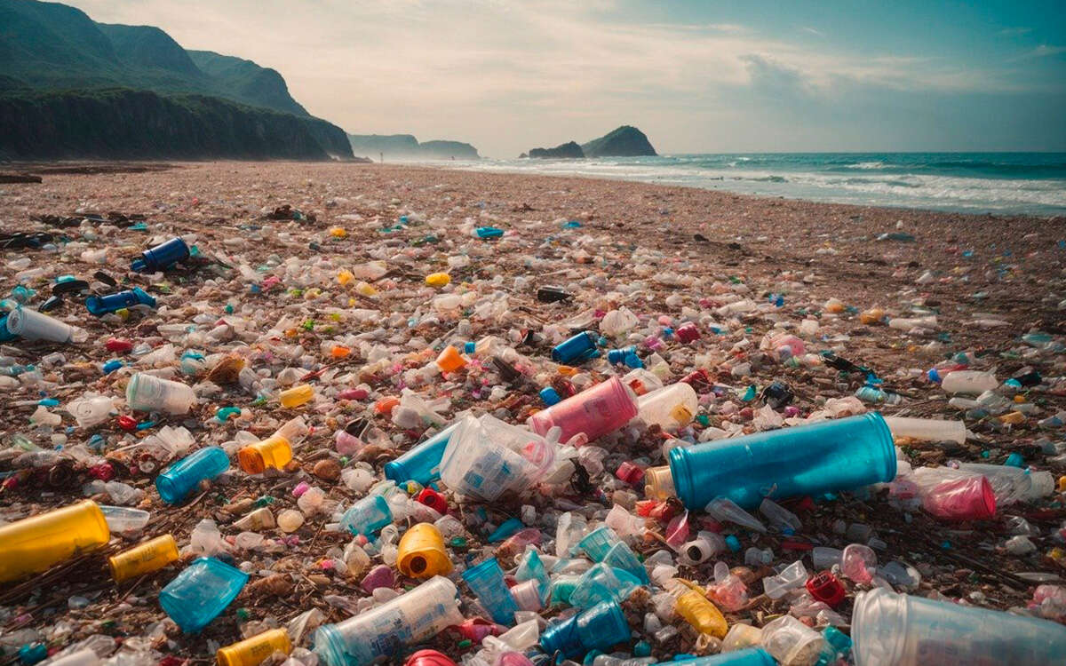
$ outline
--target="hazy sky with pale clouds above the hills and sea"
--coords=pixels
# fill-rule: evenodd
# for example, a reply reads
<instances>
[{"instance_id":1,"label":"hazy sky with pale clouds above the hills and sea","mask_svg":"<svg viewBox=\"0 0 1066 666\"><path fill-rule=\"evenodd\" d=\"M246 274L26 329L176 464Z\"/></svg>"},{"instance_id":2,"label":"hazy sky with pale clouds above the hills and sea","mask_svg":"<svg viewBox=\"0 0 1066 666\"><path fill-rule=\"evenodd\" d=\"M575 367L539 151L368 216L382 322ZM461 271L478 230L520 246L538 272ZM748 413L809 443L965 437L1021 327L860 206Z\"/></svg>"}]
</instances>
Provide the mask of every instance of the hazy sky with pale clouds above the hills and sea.
<instances>
[{"instance_id":1,"label":"hazy sky with pale clouds above the hills and sea","mask_svg":"<svg viewBox=\"0 0 1066 666\"><path fill-rule=\"evenodd\" d=\"M1066 151L1066 2L67 0L277 69L313 115L514 158Z\"/></svg>"}]
</instances>

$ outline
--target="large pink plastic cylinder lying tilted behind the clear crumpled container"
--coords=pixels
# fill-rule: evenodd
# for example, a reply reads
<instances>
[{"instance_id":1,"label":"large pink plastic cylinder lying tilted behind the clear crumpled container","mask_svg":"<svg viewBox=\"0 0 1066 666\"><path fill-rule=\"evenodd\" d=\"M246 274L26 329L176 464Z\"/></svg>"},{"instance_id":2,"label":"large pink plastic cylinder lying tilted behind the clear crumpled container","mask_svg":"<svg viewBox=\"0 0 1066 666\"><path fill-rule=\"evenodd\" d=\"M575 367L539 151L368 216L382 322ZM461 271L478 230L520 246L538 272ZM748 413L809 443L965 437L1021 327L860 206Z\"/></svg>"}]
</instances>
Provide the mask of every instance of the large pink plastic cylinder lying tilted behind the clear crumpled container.
<instances>
[{"instance_id":1,"label":"large pink plastic cylinder lying tilted behind the clear crumpled container","mask_svg":"<svg viewBox=\"0 0 1066 666\"><path fill-rule=\"evenodd\" d=\"M528 424L540 436L558 425L563 429L560 435L562 442L578 433L584 433L589 440L594 440L626 425L636 413L633 393L621 379L611 377L558 405L542 409L529 418Z\"/></svg>"}]
</instances>

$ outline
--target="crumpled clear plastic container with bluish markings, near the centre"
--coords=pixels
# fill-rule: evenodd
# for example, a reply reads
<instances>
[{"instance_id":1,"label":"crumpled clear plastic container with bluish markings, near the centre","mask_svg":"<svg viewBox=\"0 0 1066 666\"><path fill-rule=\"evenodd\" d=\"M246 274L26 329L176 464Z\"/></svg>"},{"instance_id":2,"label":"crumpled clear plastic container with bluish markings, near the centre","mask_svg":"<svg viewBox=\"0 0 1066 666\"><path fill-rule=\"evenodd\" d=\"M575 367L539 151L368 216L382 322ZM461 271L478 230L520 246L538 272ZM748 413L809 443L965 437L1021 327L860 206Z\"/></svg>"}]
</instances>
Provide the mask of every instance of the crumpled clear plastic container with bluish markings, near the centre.
<instances>
[{"instance_id":1,"label":"crumpled clear plastic container with bluish markings, near the centre","mask_svg":"<svg viewBox=\"0 0 1066 666\"><path fill-rule=\"evenodd\" d=\"M492 502L537 483L554 462L540 436L489 415L458 423L440 461L440 478L462 496Z\"/></svg>"}]
</instances>

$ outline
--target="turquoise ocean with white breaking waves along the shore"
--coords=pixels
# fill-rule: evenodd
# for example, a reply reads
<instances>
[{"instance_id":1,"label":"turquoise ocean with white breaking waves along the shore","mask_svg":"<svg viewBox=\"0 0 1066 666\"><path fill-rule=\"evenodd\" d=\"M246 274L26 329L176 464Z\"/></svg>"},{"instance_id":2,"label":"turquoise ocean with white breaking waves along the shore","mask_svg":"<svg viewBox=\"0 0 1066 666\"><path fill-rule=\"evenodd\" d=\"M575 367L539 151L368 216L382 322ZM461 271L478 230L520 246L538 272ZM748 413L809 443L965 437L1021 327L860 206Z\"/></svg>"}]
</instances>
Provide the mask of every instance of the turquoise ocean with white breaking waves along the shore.
<instances>
[{"instance_id":1,"label":"turquoise ocean with white breaking waves along the shore","mask_svg":"<svg viewBox=\"0 0 1066 666\"><path fill-rule=\"evenodd\" d=\"M617 178L836 204L1066 214L1064 152L752 152L485 159L451 164L474 170Z\"/></svg>"}]
</instances>

